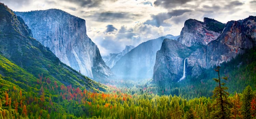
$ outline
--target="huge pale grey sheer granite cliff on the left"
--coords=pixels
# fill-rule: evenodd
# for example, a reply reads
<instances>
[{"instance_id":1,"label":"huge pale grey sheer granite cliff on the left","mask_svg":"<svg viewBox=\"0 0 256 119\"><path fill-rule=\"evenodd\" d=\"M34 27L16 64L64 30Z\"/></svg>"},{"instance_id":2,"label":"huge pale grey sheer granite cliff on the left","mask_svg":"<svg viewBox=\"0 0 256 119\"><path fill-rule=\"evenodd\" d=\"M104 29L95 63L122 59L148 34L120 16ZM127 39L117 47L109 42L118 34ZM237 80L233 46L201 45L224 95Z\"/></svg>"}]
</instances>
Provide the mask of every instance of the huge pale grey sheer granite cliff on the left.
<instances>
[{"instance_id":1,"label":"huge pale grey sheer granite cliff on the left","mask_svg":"<svg viewBox=\"0 0 256 119\"><path fill-rule=\"evenodd\" d=\"M87 36L84 19L57 9L16 14L28 24L33 36L61 62L90 78L112 75L97 45Z\"/></svg>"}]
</instances>

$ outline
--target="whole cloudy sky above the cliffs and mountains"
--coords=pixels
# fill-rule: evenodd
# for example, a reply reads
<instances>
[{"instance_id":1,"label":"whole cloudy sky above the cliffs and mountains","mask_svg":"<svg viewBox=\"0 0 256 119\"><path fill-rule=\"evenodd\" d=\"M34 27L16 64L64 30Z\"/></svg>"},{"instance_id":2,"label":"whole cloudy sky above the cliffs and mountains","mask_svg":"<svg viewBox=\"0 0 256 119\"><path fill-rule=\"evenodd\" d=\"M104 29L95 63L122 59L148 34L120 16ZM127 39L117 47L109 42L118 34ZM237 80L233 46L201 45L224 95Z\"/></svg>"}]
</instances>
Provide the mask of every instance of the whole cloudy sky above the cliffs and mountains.
<instances>
[{"instance_id":1,"label":"whole cloudy sky above the cliffs and mountains","mask_svg":"<svg viewBox=\"0 0 256 119\"><path fill-rule=\"evenodd\" d=\"M187 19L223 23L256 15L256 0L0 0L13 11L57 8L86 20L101 55L119 53L168 34L180 35Z\"/></svg>"}]
</instances>

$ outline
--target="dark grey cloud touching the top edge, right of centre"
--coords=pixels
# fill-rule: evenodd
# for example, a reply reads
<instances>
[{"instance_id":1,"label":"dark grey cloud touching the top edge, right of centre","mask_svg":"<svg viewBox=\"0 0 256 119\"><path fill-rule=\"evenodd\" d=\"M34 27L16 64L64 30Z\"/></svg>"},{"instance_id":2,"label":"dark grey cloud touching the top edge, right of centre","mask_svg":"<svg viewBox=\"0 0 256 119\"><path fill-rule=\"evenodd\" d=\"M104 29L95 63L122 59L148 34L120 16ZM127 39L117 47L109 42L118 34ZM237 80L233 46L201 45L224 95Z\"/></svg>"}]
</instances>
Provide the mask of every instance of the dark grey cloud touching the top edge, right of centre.
<instances>
[{"instance_id":1,"label":"dark grey cloud touching the top edge, right of centre","mask_svg":"<svg viewBox=\"0 0 256 119\"><path fill-rule=\"evenodd\" d=\"M189 1L192 1L192 0L156 0L154 4L156 6L171 8L171 7L181 6L182 4L185 4Z\"/></svg>"}]
</instances>

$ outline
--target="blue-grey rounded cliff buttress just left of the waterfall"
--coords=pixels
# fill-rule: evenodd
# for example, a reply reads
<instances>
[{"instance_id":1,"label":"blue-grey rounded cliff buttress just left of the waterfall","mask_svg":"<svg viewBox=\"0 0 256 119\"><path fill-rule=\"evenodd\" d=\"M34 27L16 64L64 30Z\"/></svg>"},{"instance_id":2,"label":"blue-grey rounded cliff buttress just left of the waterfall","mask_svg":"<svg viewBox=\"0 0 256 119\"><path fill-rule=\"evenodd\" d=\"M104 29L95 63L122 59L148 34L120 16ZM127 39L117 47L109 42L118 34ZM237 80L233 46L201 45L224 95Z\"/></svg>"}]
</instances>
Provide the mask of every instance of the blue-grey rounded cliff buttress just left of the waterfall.
<instances>
[{"instance_id":1,"label":"blue-grey rounded cliff buttress just left of the waterfall","mask_svg":"<svg viewBox=\"0 0 256 119\"><path fill-rule=\"evenodd\" d=\"M181 54L182 52L187 54ZM163 40L162 47L156 53L153 79L168 81L179 79L183 74L183 64L190 49L176 40Z\"/></svg>"}]
</instances>

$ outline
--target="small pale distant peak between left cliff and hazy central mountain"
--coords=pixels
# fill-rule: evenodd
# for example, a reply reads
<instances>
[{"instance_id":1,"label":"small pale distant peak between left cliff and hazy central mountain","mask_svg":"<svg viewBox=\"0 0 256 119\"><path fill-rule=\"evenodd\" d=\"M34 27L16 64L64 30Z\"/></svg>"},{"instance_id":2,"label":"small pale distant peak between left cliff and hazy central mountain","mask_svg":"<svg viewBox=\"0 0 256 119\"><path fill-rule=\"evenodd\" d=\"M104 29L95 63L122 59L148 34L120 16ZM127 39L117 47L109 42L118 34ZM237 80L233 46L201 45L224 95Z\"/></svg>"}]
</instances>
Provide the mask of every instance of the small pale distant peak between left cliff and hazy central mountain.
<instances>
[{"instance_id":1,"label":"small pale distant peak between left cliff and hazy central mountain","mask_svg":"<svg viewBox=\"0 0 256 119\"><path fill-rule=\"evenodd\" d=\"M102 56L102 59L106 63L109 68L112 68L117 61L120 60L122 56L124 56L127 52L131 51L134 48L134 46L125 46L125 49L120 53L110 53L107 56Z\"/></svg>"}]
</instances>

